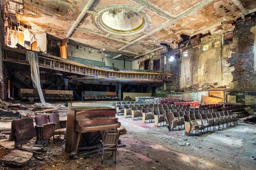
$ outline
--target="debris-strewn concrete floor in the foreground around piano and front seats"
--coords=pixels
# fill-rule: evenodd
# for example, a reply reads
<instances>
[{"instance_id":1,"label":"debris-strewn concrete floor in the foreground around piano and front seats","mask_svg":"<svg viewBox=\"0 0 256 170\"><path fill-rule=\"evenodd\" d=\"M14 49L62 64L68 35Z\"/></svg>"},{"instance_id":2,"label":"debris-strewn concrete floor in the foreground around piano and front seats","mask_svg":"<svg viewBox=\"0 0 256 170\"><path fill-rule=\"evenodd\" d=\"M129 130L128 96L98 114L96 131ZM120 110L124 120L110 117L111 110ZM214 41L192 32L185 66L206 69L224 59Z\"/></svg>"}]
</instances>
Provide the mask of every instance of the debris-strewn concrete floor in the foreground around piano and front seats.
<instances>
[{"instance_id":1,"label":"debris-strewn concrete floor in the foreground around piano and front seats","mask_svg":"<svg viewBox=\"0 0 256 170\"><path fill-rule=\"evenodd\" d=\"M125 147L118 148L117 163L101 165L101 156L80 156L69 159L65 143L45 145L47 153L40 160L33 158L21 169L255 169L256 125L239 120L239 125L185 136L181 130L169 132L166 125L155 127L119 115L127 133L120 139ZM10 127L10 123L1 123ZM9 168L18 169L18 168Z\"/></svg>"}]
</instances>

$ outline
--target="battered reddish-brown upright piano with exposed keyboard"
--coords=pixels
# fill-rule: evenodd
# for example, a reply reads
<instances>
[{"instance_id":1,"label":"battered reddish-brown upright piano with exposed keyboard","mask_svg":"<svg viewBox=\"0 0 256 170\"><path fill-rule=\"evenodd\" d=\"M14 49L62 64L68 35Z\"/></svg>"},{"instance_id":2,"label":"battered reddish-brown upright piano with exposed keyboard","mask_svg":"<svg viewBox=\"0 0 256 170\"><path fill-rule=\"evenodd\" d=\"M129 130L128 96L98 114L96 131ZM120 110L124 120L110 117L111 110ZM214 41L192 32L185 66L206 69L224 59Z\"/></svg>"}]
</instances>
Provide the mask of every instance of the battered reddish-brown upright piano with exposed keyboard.
<instances>
[{"instance_id":1,"label":"battered reddish-brown upright piano with exposed keyboard","mask_svg":"<svg viewBox=\"0 0 256 170\"><path fill-rule=\"evenodd\" d=\"M81 145L83 142L82 137L86 136L84 134L92 134L92 132L101 132L120 127L121 124L116 117L115 108L111 106L97 106L97 104L95 106L95 103L92 105L93 106L88 106L73 102L68 104L65 144L65 150L68 153L77 154L78 145Z\"/></svg>"}]
</instances>

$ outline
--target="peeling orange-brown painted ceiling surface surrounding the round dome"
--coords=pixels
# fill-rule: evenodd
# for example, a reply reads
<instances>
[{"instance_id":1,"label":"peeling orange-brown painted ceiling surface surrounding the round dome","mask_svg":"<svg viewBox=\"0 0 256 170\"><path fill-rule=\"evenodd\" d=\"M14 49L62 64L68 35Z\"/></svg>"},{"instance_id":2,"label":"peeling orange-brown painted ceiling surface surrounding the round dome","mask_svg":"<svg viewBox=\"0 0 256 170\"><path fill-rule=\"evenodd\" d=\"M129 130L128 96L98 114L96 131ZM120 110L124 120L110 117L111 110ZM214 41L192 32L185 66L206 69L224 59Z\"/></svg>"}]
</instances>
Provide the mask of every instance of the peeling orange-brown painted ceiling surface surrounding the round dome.
<instances>
[{"instance_id":1,"label":"peeling orange-brown painted ceiling surface surrounding the round dome","mask_svg":"<svg viewBox=\"0 0 256 170\"><path fill-rule=\"evenodd\" d=\"M247 10L256 8L256 1L240 1ZM25 0L24 12L17 14L17 19L31 26L31 31L47 32L65 38L88 2ZM125 36L113 35L98 28L94 19L98 11L120 5L147 14L151 18L150 27L139 34ZM182 34L219 34L230 31L233 29L232 22L241 15L242 11L232 0L95 0L78 25L87 31L76 30L70 39L106 48L109 52L137 56L159 48L160 43L171 45L174 41L180 42L183 40L180 36Z\"/></svg>"}]
</instances>

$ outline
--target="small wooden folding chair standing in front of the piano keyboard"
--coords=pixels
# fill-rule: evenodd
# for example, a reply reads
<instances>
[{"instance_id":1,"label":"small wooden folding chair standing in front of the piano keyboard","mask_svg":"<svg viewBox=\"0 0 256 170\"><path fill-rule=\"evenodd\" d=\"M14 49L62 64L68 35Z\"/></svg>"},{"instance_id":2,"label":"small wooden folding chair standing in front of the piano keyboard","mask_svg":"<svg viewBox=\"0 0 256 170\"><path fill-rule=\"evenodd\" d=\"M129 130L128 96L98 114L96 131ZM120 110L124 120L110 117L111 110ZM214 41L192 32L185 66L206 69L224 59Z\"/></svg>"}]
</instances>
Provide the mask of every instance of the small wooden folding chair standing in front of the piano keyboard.
<instances>
[{"instance_id":1,"label":"small wooden folding chair standing in front of the piano keyboard","mask_svg":"<svg viewBox=\"0 0 256 170\"><path fill-rule=\"evenodd\" d=\"M114 162L116 163L116 152L117 152L117 142L120 136L120 130L105 130L104 134L102 136L101 140L101 145L99 149L99 153L102 151L102 159L101 159L101 164L103 162L108 162L104 161L104 154L105 153L112 153L112 157L115 153L115 159ZM105 150L110 150L110 152L105 152ZM113 161L113 160L109 160Z\"/></svg>"}]
</instances>

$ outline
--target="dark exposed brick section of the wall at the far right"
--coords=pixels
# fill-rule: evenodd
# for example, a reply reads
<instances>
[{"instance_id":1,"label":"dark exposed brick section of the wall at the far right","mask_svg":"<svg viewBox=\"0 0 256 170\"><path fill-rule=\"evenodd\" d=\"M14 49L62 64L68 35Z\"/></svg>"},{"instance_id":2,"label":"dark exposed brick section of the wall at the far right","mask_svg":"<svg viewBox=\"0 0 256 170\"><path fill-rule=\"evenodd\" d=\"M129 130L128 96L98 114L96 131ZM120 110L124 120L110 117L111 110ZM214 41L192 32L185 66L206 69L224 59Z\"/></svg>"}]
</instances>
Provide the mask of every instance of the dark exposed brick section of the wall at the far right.
<instances>
[{"instance_id":1,"label":"dark exposed brick section of the wall at the far right","mask_svg":"<svg viewBox=\"0 0 256 170\"><path fill-rule=\"evenodd\" d=\"M230 67L234 67L232 71L233 85L230 86L233 90L254 90L255 76L253 75L253 44L254 34L250 32L250 28L256 24L256 17L249 16L245 21L240 20L236 23L236 28L233 30L233 49L231 57L227 59Z\"/></svg>"}]
</instances>

